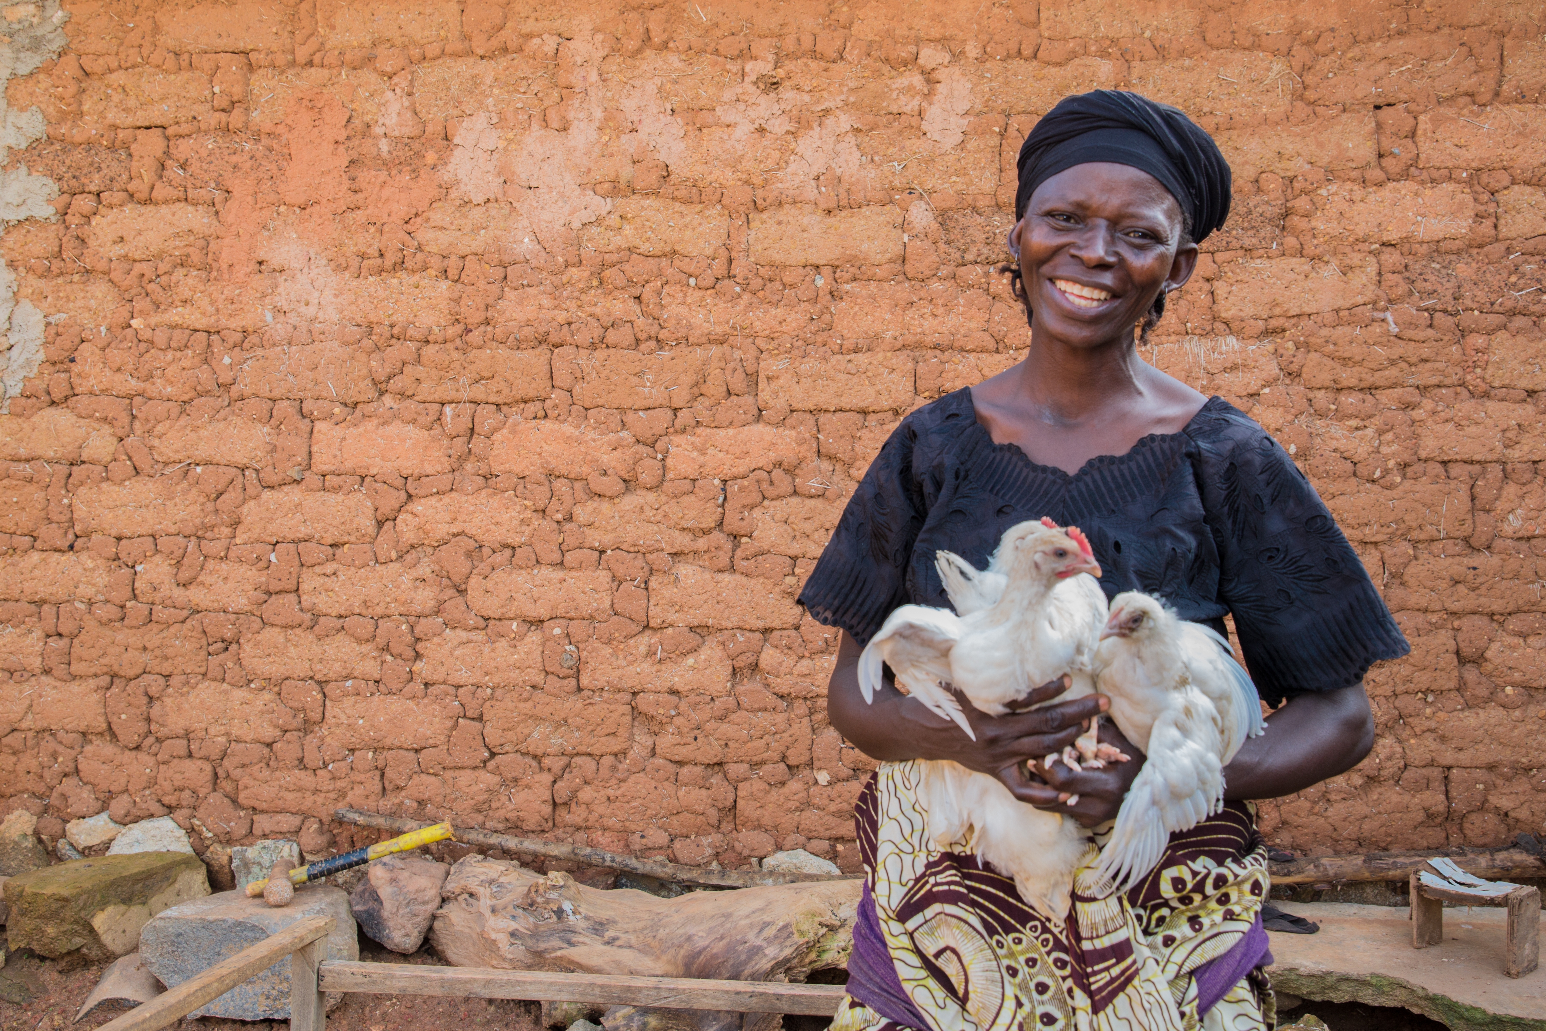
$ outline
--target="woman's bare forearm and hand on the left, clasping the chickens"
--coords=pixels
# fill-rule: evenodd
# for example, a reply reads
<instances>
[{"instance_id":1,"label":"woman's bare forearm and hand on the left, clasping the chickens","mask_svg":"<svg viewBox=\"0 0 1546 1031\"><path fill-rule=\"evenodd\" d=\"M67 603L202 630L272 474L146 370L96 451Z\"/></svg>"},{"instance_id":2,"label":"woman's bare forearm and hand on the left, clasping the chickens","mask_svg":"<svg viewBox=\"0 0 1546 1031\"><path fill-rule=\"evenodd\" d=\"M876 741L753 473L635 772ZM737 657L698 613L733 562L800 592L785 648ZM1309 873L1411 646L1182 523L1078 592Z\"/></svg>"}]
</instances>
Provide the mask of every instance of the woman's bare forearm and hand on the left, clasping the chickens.
<instances>
[{"instance_id":1,"label":"woman's bare forearm and hand on the left, clasping the chickens","mask_svg":"<svg viewBox=\"0 0 1546 1031\"><path fill-rule=\"evenodd\" d=\"M1033 784L1042 784L1039 779L1028 779L1022 764L1062 751L1082 733L1090 717L1110 706L1105 697L1096 694L1047 705L1068 689L1062 677L1036 688L1017 705L1017 709L1033 705L1040 708L1003 716L988 716L957 694L962 713L977 736L972 740L960 726L931 713L889 682L866 705L858 683L861 651L847 634L843 635L827 688L827 716L838 733L872 759L949 759L968 770L999 778L1016 796Z\"/></svg>"}]
</instances>

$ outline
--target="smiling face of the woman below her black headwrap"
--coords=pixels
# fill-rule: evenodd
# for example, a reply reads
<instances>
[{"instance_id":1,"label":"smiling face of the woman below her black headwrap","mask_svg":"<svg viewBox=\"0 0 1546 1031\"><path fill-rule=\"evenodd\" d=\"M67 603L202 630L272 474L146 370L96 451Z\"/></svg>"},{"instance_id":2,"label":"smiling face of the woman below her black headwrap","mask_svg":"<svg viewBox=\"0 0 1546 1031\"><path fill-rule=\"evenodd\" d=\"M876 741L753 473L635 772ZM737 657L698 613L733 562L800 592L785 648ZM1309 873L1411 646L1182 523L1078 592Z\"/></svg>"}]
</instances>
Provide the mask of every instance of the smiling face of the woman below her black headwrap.
<instances>
[{"instance_id":1,"label":"smiling face of the woman below her black headwrap","mask_svg":"<svg viewBox=\"0 0 1546 1031\"><path fill-rule=\"evenodd\" d=\"M1132 339L1163 289L1186 283L1181 206L1147 172L1090 162L1036 187L1016 227L1034 332L1079 348Z\"/></svg>"}]
</instances>

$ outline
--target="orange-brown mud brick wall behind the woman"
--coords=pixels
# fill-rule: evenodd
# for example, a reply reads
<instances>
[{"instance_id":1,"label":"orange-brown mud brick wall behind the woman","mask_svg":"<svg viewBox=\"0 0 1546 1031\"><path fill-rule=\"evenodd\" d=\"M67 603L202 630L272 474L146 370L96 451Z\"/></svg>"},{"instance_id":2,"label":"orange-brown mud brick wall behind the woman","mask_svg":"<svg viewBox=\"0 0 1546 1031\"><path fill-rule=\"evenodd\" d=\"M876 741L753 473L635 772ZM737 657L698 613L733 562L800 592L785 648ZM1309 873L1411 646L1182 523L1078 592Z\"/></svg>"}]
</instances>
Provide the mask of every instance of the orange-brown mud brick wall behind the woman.
<instances>
[{"instance_id":1,"label":"orange-brown mud brick wall behind the woman","mask_svg":"<svg viewBox=\"0 0 1546 1031\"><path fill-rule=\"evenodd\" d=\"M1150 357L1302 464L1411 638L1316 852L1546 791L1534 3L5 8L0 796L210 842L337 805L852 867L795 597L908 411L1013 363L1061 96L1207 127Z\"/></svg>"}]
</instances>

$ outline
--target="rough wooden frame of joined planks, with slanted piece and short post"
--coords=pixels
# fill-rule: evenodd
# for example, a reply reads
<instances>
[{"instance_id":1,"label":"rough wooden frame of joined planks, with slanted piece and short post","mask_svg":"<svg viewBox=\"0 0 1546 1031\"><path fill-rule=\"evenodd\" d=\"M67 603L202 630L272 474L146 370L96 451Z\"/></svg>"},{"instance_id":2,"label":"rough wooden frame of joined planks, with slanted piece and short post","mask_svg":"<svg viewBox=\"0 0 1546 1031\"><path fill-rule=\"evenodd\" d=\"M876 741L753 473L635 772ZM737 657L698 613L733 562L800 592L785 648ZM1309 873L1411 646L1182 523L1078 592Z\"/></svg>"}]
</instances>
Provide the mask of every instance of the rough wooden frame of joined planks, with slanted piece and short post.
<instances>
[{"instance_id":1,"label":"rough wooden frame of joined planks, with slanted piece and short post","mask_svg":"<svg viewBox=\"0 0 1546 1031\"><path fill-rule=\"evenodd\" d=\"M241 982L291 957L291 1031L326 1031L326 992L473 995L529 1002L591 1002L662 1009L730 1009L832 1017L841 985L716 982L693 977L620 977L550 971L496 971L413 963L354 963L328 958L331 917L311 917L203 974L156 995L97 1031L159 1031Z\"/></svg>"}]
</instances>

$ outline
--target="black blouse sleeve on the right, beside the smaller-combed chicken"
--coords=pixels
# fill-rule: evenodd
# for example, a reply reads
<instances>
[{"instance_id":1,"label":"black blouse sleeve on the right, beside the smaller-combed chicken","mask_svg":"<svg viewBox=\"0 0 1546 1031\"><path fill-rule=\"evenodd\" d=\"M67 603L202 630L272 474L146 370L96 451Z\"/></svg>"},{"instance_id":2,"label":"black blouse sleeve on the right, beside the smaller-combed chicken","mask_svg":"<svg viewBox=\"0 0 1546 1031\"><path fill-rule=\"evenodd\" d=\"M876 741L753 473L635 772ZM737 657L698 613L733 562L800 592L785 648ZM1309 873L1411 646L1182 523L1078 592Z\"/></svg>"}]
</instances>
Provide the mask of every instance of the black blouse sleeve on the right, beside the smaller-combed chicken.
<instances>
[{"instance_id":1,"label":"black blouse sleeve on the right, beside the smaller-combed chicken","mask_svg":"<svg viewBox=\"0 0 1546 1031\"><path fill-rule=\"evenodd\" d=\"M1235 413L1204 445L1203 492L1220 600L1262 700L1353 686L1410 651L1364 563L1294 461Z\"/></svg>"}]
</instances>

